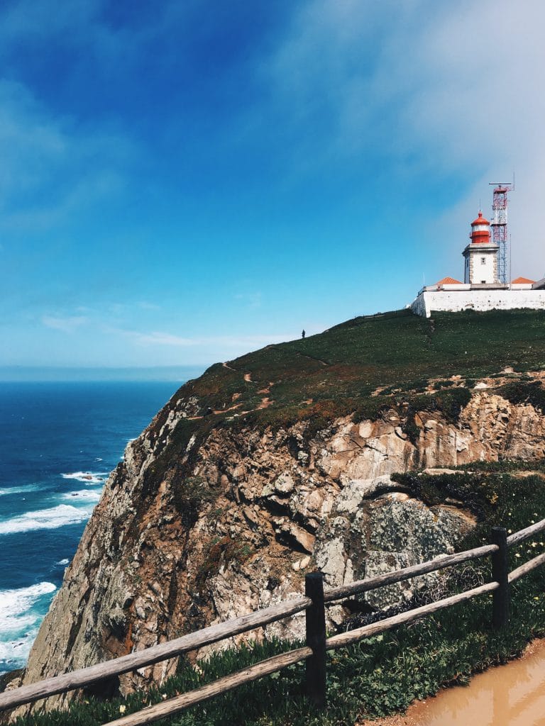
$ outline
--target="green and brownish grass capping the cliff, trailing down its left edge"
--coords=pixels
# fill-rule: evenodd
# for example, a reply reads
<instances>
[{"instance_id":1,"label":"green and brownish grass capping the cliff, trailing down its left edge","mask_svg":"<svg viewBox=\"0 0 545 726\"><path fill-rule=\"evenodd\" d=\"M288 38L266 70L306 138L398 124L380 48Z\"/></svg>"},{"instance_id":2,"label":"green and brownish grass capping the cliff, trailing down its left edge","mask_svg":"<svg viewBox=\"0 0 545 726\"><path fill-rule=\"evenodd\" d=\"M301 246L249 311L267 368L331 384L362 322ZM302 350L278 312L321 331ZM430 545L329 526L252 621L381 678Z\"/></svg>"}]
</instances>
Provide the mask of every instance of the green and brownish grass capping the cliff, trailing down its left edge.
<instances>
[{"instance_id":1,"label":"green and brownish grass capping the cliff, trailing down its left edge","mask_svg":"<svg viewBox=\"0 0 545 726\"><path fill-rule=\"evenodd\" d=\"M459 393L464 382L472 388L479 378L506 366L519 372L544 367L544 340L541 311L442 313L435 315L432 327L429 320L402 310L354 318L320 335L266 346L228 362L228 367L214 364L175 394L174 401L194 397L198 417L179 422L146 473L147 491L156 491L165 476L190 476L193 456L186 457L185 449L193 435L193 452L214 428L263 431L307 422L305 435L314 436L339 416L376 419L407 396L425 396L430 381L436 409L448 413L456 410L456 396L464 396ZM449 380L453 375L461 376L456 387ZM516 385L505 387L506 396L514 400L531 394L528 400L541 407L541 386L528 393L515 390ZM379 388L384 389L381 395L373 396ZM259 409L265 397L271 405ZM428 408L430 400L422 397L416 405ZM416 405L408 420L412 439L417 434L411 427Z\"/></svg>"}]
</instances>

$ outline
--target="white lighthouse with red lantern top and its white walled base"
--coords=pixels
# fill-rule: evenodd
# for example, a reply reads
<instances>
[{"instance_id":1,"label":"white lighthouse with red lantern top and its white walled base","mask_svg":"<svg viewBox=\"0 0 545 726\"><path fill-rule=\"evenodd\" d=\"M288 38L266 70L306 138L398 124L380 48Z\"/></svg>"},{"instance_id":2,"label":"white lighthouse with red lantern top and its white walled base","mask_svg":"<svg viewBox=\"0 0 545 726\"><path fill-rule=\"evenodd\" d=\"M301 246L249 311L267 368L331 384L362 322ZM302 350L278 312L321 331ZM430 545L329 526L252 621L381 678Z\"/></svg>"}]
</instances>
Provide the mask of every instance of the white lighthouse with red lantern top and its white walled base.
<instances>
[{"instance_id":1,"label":"white lighthouse with red lantern top and its white walled base","mask_svg":"<svg viewBox=\"0 0 545 726\"><path fill-rule=\"evenodd\" d=\"M471 223L469 239L462 252L464 282L443 277L435 285L422 287L411 304L414 313L430 317L434 311L545 310L545 278L536 282L517 277L512 282L501 282L508 278L501 273L500 245L491 239L491 223L481 211Z\"/></svg>"}]
</instances>

